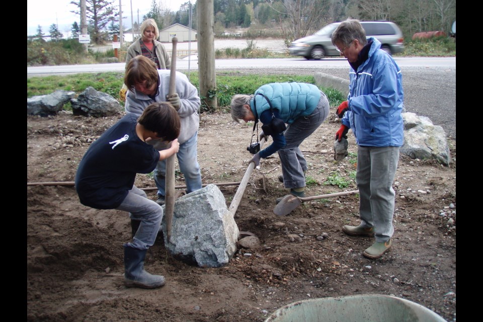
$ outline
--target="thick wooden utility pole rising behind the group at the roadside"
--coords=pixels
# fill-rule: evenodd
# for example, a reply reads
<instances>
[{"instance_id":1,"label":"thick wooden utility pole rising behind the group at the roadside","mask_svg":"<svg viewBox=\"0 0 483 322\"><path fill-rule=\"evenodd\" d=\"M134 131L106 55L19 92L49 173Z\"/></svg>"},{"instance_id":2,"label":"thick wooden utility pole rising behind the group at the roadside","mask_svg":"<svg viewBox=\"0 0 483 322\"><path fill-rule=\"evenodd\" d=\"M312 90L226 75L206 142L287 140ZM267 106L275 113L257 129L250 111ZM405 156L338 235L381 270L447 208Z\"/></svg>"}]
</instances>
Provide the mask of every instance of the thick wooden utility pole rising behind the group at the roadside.
<instances>
[{"instance_id":1,"label":"thick wooden utility pole rising behind the group at the roadside","mask_svg":"<svg viewBox=\"0 0 483 322\"><path fill-rule=\"evenodd\" d=\"M216 89L215 35L213 0L198 0L198 75L202 103L215 110L216 95L209 97ZM210 93L211 92L211 93Z\"/></svg>"}]
</instances>

